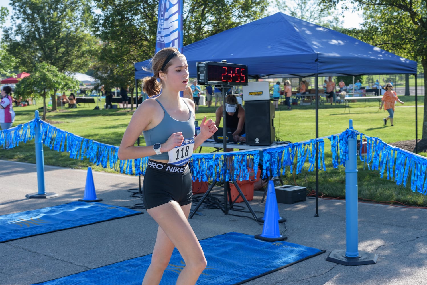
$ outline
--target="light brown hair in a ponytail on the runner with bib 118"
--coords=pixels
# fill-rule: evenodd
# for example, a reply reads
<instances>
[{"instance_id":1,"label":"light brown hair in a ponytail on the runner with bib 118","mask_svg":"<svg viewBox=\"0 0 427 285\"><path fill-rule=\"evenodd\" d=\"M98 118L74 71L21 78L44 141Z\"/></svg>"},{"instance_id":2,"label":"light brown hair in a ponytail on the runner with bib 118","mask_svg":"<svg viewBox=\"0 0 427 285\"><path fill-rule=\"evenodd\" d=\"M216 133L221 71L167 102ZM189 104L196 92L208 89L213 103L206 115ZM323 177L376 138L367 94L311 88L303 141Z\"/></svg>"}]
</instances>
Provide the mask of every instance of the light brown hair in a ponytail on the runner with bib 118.
<instances>
[{"instance_id":1,"label":"light brown hair in a ponytail on the runner with bib 118","mask_svg":"<svg viewBox=\"0 0 427 285\"><path fill-rule=\"evenodd\" d=\"M175 53L175 55L173 55ZM166 62L169 56L174 58L175 56L181 59L185 59L185 56L179 53L178 49L174 47L167 47L159 50L151 59L151 72L153 76L147 76L142 79L143 81L143 92L146 93L149 97L156 96L160 94L162 88L162 81L157 80L159 77L159 72L167 73L167 69L172 65L172 58L169 59L169 62ZM166 65L163 67L163 65ZM163 69L163 70L162 70Z\"/></svg>"}]
</instances>

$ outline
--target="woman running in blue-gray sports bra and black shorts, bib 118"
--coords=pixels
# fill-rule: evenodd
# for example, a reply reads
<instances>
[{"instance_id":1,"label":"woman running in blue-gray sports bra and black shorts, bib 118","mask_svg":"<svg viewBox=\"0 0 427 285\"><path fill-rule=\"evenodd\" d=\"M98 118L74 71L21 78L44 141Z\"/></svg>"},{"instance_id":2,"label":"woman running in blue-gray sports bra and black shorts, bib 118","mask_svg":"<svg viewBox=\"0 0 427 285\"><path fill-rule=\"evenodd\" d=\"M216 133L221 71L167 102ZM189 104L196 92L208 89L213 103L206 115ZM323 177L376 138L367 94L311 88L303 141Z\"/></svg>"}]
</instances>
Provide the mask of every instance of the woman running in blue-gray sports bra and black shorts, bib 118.
<instances>
[{"instance_id":1,"label":"woman running in blue-gray sports bra and black shorts, bib 118","mask_svg":"<svg viewBox=\"0 0 427 285\"><path fill-rule=\"evenodd\" d=\"M120 160L149 157L143 180L143 201L159 224L157 239L143 285L159 284L176 247L185 262L176 284L195 284L206 267L202 247L190 224L192 185L187 163L193 149L217 130L206 117L194 137L194 103L181 98L187 87L187 60L175 48L165 48L152 58L154 76L143 79L150 98L138 106L120 143ZM160 79L160 82L158 82ZM144 134L146 146L135 146Z\"/></svg>"}]
</instances>

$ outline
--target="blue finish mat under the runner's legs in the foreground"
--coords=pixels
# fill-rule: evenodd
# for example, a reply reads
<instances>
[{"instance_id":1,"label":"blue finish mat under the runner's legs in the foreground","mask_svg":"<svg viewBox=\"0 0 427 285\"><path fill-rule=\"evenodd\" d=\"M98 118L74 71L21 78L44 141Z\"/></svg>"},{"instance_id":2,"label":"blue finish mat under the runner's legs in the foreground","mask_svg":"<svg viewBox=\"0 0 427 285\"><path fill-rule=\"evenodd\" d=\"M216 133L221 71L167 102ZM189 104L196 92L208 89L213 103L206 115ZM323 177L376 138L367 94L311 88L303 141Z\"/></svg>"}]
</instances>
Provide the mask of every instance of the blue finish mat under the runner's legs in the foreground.
<instances>
[{"instance_id":1,"label":"blue finish mat under the runner's legs in the foreground","mask_svg":"<svg viewBox=\"0 0 427 285\"><path fill-rule=\"evenodd\" d=\"M196 285L242 284L325 252L286 241L262 241L242 233L225 233L203 239L200 244L208 265ZM150 261L151 254L38 284L140 285ZM175 248L160 285L175 284L184 266Z\"/></svg>"}]
</instances>

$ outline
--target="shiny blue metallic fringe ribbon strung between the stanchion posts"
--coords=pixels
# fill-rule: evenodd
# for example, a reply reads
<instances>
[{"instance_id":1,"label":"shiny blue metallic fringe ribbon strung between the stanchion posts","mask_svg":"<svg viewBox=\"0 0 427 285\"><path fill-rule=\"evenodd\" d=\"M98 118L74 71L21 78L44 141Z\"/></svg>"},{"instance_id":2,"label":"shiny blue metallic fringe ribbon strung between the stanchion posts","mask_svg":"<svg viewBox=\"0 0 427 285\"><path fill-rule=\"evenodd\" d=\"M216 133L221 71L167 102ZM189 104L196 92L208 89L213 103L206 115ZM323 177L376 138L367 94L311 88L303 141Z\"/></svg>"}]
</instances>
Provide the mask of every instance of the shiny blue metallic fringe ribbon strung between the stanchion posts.
<instances>
[{"instance_id":1,"label":"shiny blue metallic fringe ribbon strung between the stanchion posts","mask_svg":"<svg viewBox=\"0 0 427 285\"><path fill-rule=\"evenodd\" d=\"M25 124L0 131L0 146L15 148L21 142L26 143L34 139L36 124L41 125L44 145L52 150L66 151L72 159L87 158L97 166L101 165L103 168L111 168L124 174L135 174L136 176L145 174L147 157L119 160L117 146L76 136L41 119L33 119ZM359 152L363 167L378 170L381 178L386 174L387 179L394 179L397 185L404 187L407 186L408 179L410 179L412 191L427 195L427 179L425 178L427 159L425 157L388 145L377 137L366 136L353 128L328 137L333 168L338 168L339 165L345 166L345 161L348 159L349 137L359 137L360 142L366 140L366 153ZM287 168L290 173L295 171L296 174L299 174L305 169L306 163L308 171L315 169L316 145L319 146L317 166L326 171L325 142L322 138L251 151L193 154L189 166L194 181L249 180L251 173L257 172L260 161L262 161L262 178L284 175ZM360 144L360 150L362 145Z\"/></svg>"}]
</instances>

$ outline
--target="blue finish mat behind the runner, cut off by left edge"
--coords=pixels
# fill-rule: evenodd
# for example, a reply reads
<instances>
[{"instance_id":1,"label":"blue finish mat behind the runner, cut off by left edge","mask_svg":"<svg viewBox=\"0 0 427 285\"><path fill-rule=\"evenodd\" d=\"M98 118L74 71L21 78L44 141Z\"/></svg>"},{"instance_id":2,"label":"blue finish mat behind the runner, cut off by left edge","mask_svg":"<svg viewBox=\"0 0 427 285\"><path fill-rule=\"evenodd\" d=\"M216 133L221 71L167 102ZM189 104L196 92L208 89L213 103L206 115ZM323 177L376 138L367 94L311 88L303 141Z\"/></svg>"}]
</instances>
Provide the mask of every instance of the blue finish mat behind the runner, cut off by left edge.
<instances>
[{"instance_id":1,"label":"blue finish mat behind the runner, cut off by left edge","mask_svg":"<svg viewBox=\"0 0 427 285\"><path fill-rule=\"evenodd\" d=\"M71 202L53 207L0 215L0 242L138 214L142 214L142 212L120 206L97 202Z\"/></svg>"}]
</instances>

